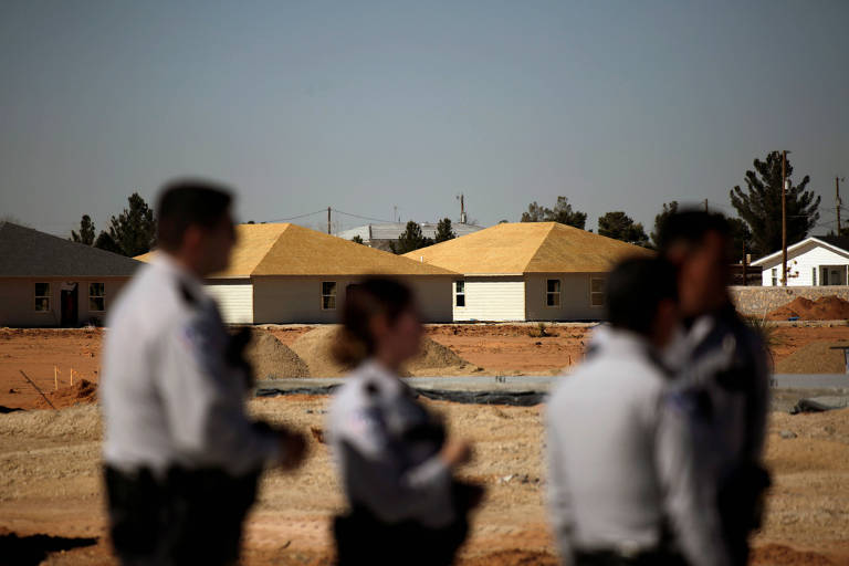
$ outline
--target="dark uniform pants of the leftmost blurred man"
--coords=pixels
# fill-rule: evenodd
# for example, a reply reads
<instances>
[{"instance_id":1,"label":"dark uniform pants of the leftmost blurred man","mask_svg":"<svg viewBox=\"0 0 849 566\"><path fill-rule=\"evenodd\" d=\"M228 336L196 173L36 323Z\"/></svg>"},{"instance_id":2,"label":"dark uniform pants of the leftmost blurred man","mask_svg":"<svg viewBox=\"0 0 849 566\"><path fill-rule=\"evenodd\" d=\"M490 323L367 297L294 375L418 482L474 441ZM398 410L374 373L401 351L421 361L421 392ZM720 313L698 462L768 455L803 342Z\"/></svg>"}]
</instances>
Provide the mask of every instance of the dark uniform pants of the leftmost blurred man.
<instances>
[{"instance_id":1,"label":"dark uniform pants of the leftmost blurred man","mask_svg":"<svg viewBox=\"0 0 849 566\"><path fill-rule=\"evenodd\" d=\"M124 566L224 565L239 558L242 522L256 496L259 473L106 467L112 544Z\"/></svg>"}]
</instances>

